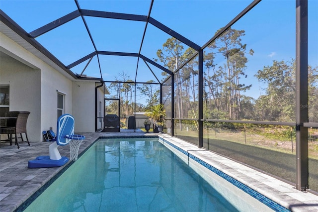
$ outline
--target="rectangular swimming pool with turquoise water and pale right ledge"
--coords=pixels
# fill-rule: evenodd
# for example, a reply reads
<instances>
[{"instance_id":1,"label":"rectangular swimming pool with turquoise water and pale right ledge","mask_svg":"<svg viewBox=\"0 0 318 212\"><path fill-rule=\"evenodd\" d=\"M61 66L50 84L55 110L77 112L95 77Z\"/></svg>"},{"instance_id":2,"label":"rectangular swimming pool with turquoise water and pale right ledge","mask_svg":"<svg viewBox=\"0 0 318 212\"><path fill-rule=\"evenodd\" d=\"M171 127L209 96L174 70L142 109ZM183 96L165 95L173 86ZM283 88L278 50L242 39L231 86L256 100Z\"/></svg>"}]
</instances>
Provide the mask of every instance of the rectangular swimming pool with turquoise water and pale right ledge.
<instances>
[{"instance_id":1,"label":"rectangular swimming pool with turquoise water and pale right ledge","mask_svg":"<svg viewBox=\"0 0 318 212\"><path fill-rule=\"evenodd\" d=\"M198 172L158 139L100 139L25 211L271 211Z\"/></svg>"}]
</instances>

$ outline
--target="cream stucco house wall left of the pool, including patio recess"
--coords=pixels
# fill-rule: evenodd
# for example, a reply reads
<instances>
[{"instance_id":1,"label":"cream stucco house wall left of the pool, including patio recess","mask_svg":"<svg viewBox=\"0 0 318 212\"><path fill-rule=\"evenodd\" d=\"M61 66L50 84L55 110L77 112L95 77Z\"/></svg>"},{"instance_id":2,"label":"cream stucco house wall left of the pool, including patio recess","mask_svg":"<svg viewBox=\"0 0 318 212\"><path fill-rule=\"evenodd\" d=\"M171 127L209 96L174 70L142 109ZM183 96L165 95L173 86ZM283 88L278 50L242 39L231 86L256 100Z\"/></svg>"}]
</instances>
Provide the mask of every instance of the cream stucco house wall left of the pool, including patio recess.
<instances>
[{"instance_id":1,"label":"cream stucco house wall left of the pool, including patio recess","mask_svg":"<svg viewBox=\"0 0 318 212\"><path fill-rule=\"evenodd\" d=\"M10 85L10 111L31 112L27 122L30 141L44 141L42 131L50 127L56 131L58 93L65 97L63 113L75 118L75 131L95 132L94 81L75 81L3 33L0 51L0 84ZM103 94L99 97L103 99Z\"/></svg>"}]
</instances>

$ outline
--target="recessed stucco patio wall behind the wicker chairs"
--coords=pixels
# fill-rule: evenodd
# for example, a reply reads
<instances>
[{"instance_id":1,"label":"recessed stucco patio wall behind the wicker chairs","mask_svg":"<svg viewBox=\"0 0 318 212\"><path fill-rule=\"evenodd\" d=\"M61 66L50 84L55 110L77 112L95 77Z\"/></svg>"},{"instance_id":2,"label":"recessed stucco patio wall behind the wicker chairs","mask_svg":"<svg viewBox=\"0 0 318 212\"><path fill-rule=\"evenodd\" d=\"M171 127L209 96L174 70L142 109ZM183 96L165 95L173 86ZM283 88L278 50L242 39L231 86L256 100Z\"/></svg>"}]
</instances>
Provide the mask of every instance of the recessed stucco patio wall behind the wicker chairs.
<instances>
[{"instance_id":1,"label":"recessed stucco patio wall behind the wicker chairs","mask_svg":"<svg viewBox=\"0 0 318 212\"><path fill-rule=\"evenodd\" d=\"M39 140L41 128L41 72L11 58L1 57L0 84L9 85L9 110L30 111L27 132L30 141ZM3 136L3 135L2 135Z\"/></svg>"}]
</instances>

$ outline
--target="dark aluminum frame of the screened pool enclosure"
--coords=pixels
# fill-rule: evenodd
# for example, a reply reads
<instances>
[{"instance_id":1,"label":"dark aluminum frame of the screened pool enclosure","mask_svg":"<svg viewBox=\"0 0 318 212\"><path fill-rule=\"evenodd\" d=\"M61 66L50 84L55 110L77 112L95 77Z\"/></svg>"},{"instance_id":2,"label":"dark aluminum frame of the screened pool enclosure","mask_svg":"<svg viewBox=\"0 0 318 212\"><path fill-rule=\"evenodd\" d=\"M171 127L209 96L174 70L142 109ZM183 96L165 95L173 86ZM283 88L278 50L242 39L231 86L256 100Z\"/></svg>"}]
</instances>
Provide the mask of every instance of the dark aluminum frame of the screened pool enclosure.
<instances>
[{"instance_id":1,"label":"dark aluminum frame of the screened pool enclosure","mask_svg":"<svg viewBox=\"0 0 318 212\"><path fill-rule=\"evenodd\" d=\"M227 29L229 29L234 23L236 23L244 14L246 14L249 10L251 10L255 5L257 5L261 0L254 0L250 3L244 10L242 10L233 20L231 20L226 26L222 28L217 34L215 34L206 44L202 47L198 46L194 42L190 41L189 39L183 37L182 35L178 34L177 32L173 31L172 29L168 28L167 26L163 25L159 21L155 20L149 15L133 15L133 14L125 14L125 13L115 13L115 12L103 12L103 11L96 11L96 10L86 10L79 8L59 19L52 21L51 23L42 26L30 33L27 33L22 29L18 24L16 24L9 16L7 16L2 10L0 10L0 20L11 28L15 33L21 36L26 42L30 43L34 46L37 50L43 53L46 57L50 58L54 63L56 63L61 69L67 72L70 76L74 79L81 79L81 80L92 80L92 78L85 78L81 77L80 75L74 74L70 69L86 60L91 60L92 57L98 55L117 55L117 56L131 56L131 57L138 57L138 59L142 59L146 65L151 63L152 65L156 66L160 70L166 72L170 76L166 79L171 79L171 135L174 136L174 122L175 120L189 120L186 118L174 118L174 74L181 70L191 59L198 56L198 71L199 71L199 100L203 98L203 51L204 49L210 45L213 41L215 41L222 33L224 33ZM77 2L77 1L76 1ZM153 1L152 1L153 2ZM241 121L241 120L219 120L219 119L204 119L203 118L203 103L199 101L198 110L199 110L199 117L198 119L191 119L196 120L199 123L199 131L198 131L198 138L199 138L199 147L203 148L203 122L204 121L211 121L211 122L230 122L230 123L253 123L253 124L274 124L274 125L288 125L288 126L295 126L296 127L296 188L300 191L306 191L309 188L308 186L308 177L309 177L309 167L308 167L308 127L314 126L317 127L317 123L310 123L308 119L308 0L295 0L296 2L296 120L295 122L268 122L268 121ZM36 37L60 26L68 21L71 21L77 17L81 17L84 20L85 16L94 16L94 17L102 17L102 18L114 18L114 19L124 19L124 20L134 20L134 21L143 21L146 23L151 23L155 27L159 28L161 31L166 32L170 36L180 40L184 44L188 45L189 47L193 48L197 51L188 61L178 67L177 70L172 72L171 70L159 65L155 61L145 57L140 52L139 53L127 53L127 52L110 52L110 51L100 51L97 50L95 47L95 51L80 58L79 60L71 63L68 66L65 66L61 61L59 61L53 54L48 52L39 42L35 40ZM90 34L89 29L86 26L88 34ZM145 27L146 30L147 26ZM93 38L90 36L92 43ZM142 45L142 44L141 44ZM99 61L99 59L98 59ZM88 62L89 63L89 62ZM99 67L100 68L100 67ZM150 67L148 66L150 69ZM151 70L151 69L150 69ZM101 70L100 70L101 72ZM154 74L154 72L151 70ZM137 75L137 71L136 71ZM156 77L156 75L154 74ZM158 78L156 77L158 80ZM95 87L97 90L98 87L103 86L105 82L111 81L103 81L101 78L93 78L93 80L100 80L101 85ZM160 85L160 103L162 102L162 84L164 82L158 83L149 83L149 84L159 84ZM135 88L136 84L140 84L142 82L117 82L116 83L134 83ZM143 83L147 84L147 83ZM119 97L120 98L120 97ZM135 102L136 102L136 94L135 94ZM97 105L95 106L95 116L97 118ZM136 112L136 108L135 108ZM97 121L97 119L96 119Z\"/></svg>"}]
</instances>

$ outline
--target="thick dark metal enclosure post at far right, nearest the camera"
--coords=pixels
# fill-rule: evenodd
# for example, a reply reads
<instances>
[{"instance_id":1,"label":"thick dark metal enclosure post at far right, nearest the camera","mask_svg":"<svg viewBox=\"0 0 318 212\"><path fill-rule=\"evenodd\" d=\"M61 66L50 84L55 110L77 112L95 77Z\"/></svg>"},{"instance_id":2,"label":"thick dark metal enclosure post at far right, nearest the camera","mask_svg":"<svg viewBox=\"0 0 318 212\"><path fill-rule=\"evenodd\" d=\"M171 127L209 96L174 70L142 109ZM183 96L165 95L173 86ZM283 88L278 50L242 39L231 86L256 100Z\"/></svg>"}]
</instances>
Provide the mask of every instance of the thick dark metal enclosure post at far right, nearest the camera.
<instances>
[{"instance_id":1,"label":"thick dark metal enclosure post at far right, nearest the camera","mask_svg":"<svg viewBox=\"0 0 318 212\"><path fill-rule=\"evenodd\" d=\"M296 0L296 189L308 188L308 0Z\"/></svg>"}]
</instances>

